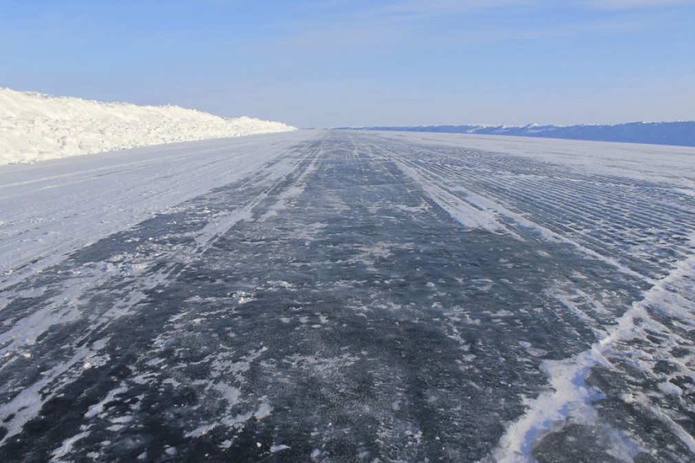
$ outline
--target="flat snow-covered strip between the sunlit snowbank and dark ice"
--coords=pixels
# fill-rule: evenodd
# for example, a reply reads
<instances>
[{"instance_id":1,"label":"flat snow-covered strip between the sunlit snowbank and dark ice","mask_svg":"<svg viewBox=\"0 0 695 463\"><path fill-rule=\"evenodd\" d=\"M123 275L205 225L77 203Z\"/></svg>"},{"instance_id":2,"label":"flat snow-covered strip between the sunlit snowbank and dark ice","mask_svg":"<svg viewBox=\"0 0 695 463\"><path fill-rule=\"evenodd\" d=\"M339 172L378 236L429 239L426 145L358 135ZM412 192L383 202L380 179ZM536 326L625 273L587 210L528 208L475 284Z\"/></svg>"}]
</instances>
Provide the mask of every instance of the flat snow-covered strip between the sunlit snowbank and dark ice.
<instances>
[{"instance_id":1,"label":"flat snow-covered strip between the sunlit snowbank and dark ice","mask_svg":"<svg viewBox=\"0 0 695 463\"><path fill-rule=\"evenodd\" d=\"M0 166L0 290L79 247L260 170L310 136L261 134Z\"/></svg>"}]
</instances>

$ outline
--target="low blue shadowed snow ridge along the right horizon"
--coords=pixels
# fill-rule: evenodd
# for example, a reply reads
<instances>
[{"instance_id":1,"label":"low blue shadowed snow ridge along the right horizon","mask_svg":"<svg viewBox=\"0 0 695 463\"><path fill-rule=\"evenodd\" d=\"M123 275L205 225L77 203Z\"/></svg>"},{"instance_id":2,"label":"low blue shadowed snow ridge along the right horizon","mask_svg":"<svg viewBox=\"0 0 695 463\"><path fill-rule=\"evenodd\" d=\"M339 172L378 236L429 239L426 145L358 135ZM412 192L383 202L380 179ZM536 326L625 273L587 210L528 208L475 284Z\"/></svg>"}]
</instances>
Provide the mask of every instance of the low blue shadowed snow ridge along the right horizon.
<instances>
[{"instance_id":1,"label":"low blue shadowed snow ridge along the right horizon","mask_svg":"<svg viewBox=\"0 0 695 463\"><path fill-rule=\"evenodd\" d=\"M357 129L357 127L354 127ZM528 124L523 127L484 125L431 125L418 127L359 127L366 130L476 133L523 137L566 138L654 145L695 146L695 122L629 122L571 126Z\"/></svg>"}]
</instances>

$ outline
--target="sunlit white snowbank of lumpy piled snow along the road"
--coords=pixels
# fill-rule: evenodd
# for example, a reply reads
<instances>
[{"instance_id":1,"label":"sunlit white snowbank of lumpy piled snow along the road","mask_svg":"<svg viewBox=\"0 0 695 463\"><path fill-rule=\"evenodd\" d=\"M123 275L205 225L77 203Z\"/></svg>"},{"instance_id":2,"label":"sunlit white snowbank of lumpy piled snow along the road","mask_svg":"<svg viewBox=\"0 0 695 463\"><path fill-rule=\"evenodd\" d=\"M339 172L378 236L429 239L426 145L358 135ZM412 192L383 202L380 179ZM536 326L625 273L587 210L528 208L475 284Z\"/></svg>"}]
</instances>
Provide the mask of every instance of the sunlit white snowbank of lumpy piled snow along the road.
<instances>
[{"instance_id":1,"label":"sunlit white snowbank of lumpy piled snow along the road","mask_svg":"<svg viewBox=\"0 0 695 463\"><path fill-rule=\"evenodd\" d=\"M253 117L0 88L0 165L113 149L295 130Z\"/></svg>"}]
</instances>

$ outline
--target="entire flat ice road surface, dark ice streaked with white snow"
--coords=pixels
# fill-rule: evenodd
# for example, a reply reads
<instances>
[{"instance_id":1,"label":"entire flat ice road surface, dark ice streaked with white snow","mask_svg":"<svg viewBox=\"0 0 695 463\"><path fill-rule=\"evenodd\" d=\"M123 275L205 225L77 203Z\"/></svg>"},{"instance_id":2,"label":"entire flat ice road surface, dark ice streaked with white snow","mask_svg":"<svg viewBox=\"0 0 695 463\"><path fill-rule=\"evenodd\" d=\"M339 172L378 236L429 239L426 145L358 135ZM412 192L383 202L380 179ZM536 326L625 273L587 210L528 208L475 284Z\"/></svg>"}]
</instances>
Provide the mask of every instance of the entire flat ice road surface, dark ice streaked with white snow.
<instances>
[{"instance_id":1,"label":"entire flat ice road surface, dark ice streaked with white snow","mask_svg":"<svg viewBox=\"0 0 695 463\"><path fill-rule=\"evenodd\" d=\"M514 143L1 168L0 459L692 460L695 150Z\"/></svg>"}]
</instances>

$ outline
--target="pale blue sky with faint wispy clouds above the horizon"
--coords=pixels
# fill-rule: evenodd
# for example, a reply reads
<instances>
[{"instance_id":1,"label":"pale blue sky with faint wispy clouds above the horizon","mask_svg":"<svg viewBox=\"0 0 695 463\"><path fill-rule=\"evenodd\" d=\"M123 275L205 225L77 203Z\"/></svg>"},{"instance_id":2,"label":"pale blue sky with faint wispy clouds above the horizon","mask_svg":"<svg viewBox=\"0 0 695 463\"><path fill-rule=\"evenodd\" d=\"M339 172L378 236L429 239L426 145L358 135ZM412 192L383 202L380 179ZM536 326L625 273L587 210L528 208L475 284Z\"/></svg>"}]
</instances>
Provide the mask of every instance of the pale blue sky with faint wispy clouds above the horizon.
<instances>
[{"instance_id":1,"label":"pale blue sky with faint wispy clouds above the horizon","mask_svg":"<svg viewBox=\"0 0 695 463\"><path fill-rule=\"evenodd\" d=\"M299 127L695 120L695 0L6 2L0 86Z\"/></svg>"}]
</instances>

